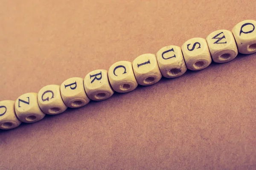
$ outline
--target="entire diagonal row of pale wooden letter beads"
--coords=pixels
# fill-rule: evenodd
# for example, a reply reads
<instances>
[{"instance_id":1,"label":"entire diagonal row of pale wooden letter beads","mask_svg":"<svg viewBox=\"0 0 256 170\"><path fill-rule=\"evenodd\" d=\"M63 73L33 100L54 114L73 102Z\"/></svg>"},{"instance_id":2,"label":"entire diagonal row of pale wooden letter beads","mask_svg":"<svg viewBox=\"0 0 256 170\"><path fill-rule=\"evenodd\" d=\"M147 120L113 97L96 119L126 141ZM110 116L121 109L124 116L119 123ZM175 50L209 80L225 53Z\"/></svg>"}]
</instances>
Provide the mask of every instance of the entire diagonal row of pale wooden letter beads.
<instances>
[{"instance_id":1,"label":"entire diagonal row of pale wooden letter beads","mask_svg":"<svg viewBox=\"0 0 256 170\"><path fill-rule=\"evenodd\" d=\"M0 129L12 129L21 122L32 123L45 114L58 114L67 107L79 108L92 100L104 100L114 91L133 91L138 84L152 85L162 76L179 77L190 70L206 68L214 62L228 62L238 52L256 52L256 21L245 20L231 31L214 31L206 39L192 38L182 48L174 45L161 48L157 54L143 54L133 62L119 61L109 70L95 70L84 79L73 77L61 85L47 85L37 93L27 93L16 101L0 102Z\"/></svg>"}]
</instances>

